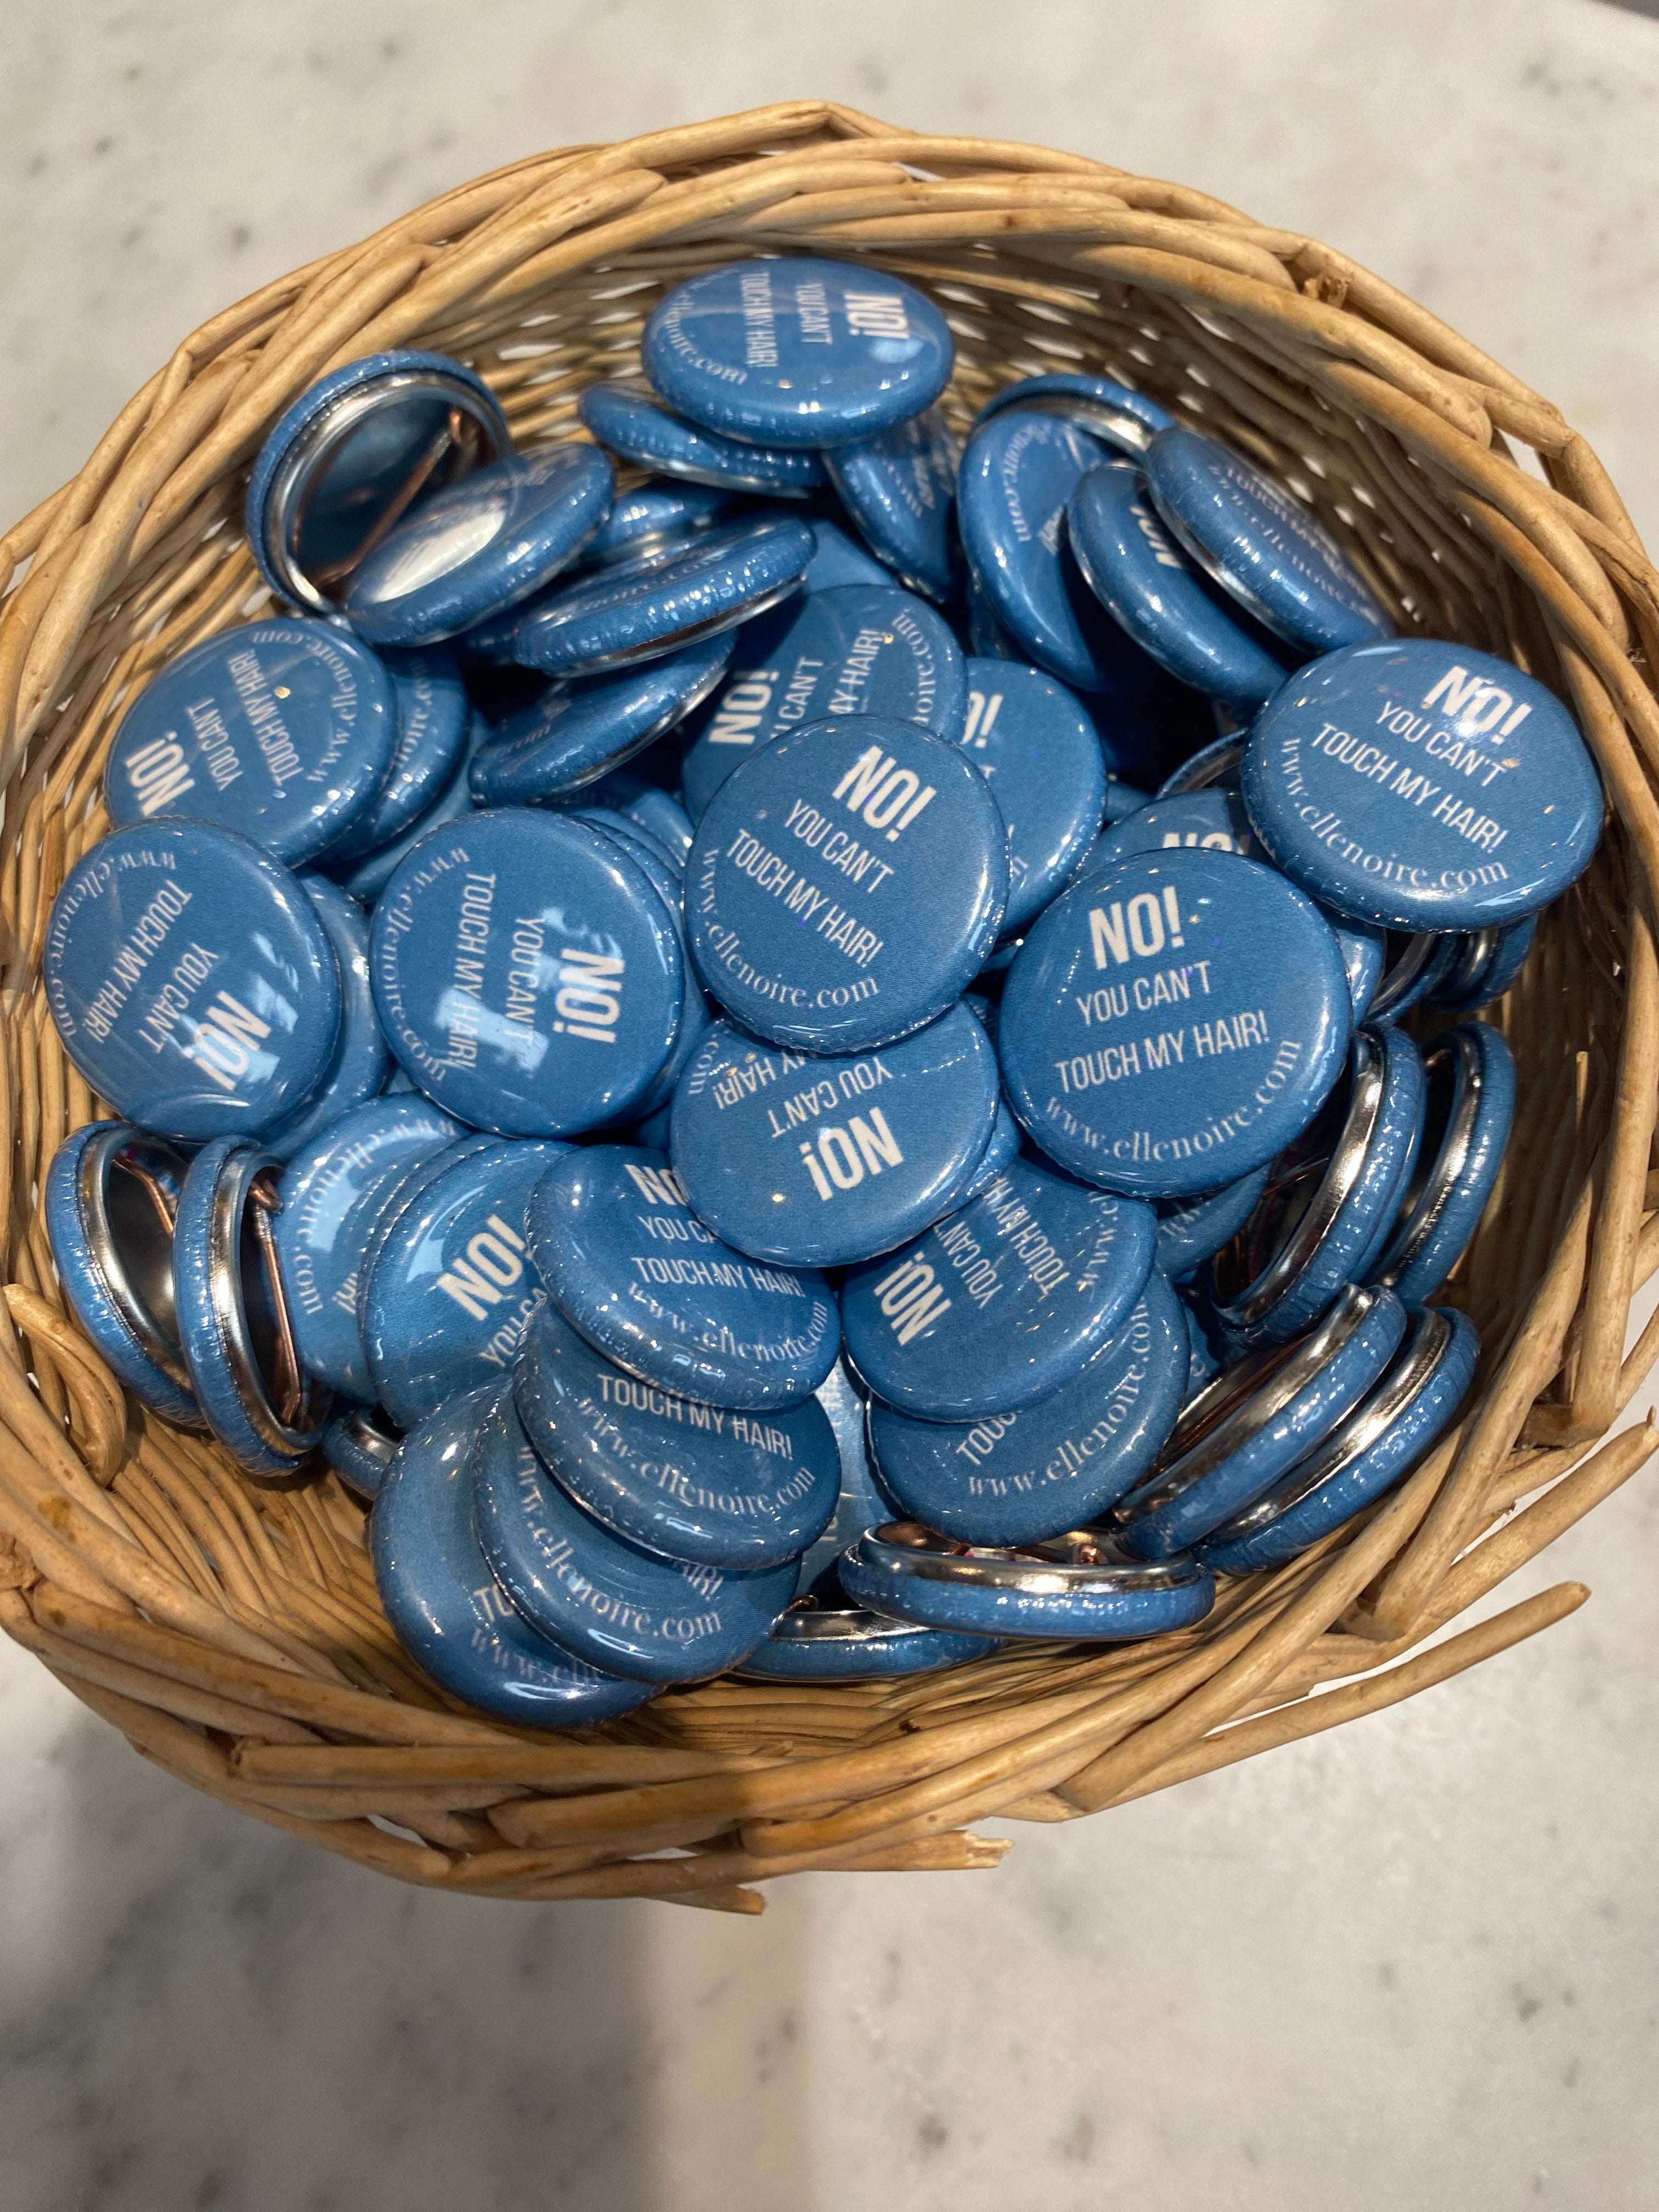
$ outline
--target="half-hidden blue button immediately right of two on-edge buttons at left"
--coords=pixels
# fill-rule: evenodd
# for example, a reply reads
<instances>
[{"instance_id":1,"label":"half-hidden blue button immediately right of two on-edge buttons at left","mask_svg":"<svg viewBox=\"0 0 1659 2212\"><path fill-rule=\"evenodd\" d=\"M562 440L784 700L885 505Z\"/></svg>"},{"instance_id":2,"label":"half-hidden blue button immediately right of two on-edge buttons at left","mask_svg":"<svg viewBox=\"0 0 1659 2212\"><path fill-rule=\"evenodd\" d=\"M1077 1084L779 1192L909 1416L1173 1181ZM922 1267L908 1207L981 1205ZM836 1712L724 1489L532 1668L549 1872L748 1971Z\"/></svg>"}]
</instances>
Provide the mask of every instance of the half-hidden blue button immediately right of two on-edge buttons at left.
<instances>
[{"instance_id":1,"label":"half-hidden blue button immediately right of two on-edge buttons at left","mask_svg":"<svg viewBox=\"0 0 1659 2212\"><path fill-rule=\"evenodd\" d=\"M374 1398L356 1323L363 1239L398 1177L460 1135L418 1091L369 1099L299 1150L276 1186L276 1265L307 1374Z\"/></svg>"}]
</instances>

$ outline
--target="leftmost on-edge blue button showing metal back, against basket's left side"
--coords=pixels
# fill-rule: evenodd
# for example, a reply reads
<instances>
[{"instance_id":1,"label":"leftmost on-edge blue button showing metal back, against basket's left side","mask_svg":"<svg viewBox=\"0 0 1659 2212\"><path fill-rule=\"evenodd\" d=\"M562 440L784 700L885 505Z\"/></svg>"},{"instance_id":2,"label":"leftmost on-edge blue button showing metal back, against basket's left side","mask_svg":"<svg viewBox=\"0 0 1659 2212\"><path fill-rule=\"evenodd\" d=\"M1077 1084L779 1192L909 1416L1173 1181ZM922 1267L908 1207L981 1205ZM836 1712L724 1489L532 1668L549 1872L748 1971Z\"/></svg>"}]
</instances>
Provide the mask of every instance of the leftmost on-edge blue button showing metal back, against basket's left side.
<instances>
[{"instance_id":1,"label":"leftmost on-edge blue button showing metal back, against basket's left side","mask_svg":"<svg viewBox=\"0 0 1659 2212\"><path fill-rule=\"evenodd\" d=\"M199 1429L173 1303L173 1217L188 1164L128 1121L88 1121L58 1146L42 1212L58 1281L135 1398Z\"/></svg>"}]
</instances>

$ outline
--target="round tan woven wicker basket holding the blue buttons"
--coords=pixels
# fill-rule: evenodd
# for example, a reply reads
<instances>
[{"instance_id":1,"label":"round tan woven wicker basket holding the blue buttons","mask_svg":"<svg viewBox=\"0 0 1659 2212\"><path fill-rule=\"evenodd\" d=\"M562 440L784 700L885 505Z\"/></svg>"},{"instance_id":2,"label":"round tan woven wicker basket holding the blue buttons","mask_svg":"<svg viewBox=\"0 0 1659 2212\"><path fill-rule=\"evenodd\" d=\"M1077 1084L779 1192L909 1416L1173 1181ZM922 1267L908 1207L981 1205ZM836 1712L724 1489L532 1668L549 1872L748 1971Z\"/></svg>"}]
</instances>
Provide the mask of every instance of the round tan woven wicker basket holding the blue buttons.
<instances>
[{"instance_id":1,"label":"round tan woven wicker basket holding the blue buttons","mask_svg":"<svg viewBox=\"0 0 1659 2212\"><path fill-rule=\"evenodd\" d=\"M768 250L869 254L922 285L956 330L958 425L1013 376L1093 369L1290 480L1402 630L1509 655L1573 703L1613 823L1493 1013L1520 1066L1515 1135L1453 1283L1486 1356L1462 1422L1398 1491L1150 1646L1029 1646L891 1683L717 1681L549 1739L409 1666L332 1475L254 1489L124 1402L64 1318L38 1194L97 1104L46 1015L40 942L108 827L122 699L265 604L241 482L305 385L422 345L482 369L520 445L568 436L575 394L635 363L666 285ZM971 1820L1164 1790L1411 1697L1582 1604L1562 1584L1405 1657L1655 1449L1635 1429L1586 1460L1659 1356L1655 1323L1624 1358L1632 1287L1659 1267L1659 577L1584 438L1367 270L1177 184L823 102L540 155L186 338L0 540L7 584L0 1621L146 1759L407 1882L759 1911L745 1882L807 1867L995 1865L1006 1845Z\"/></svg>"}]
</instances>

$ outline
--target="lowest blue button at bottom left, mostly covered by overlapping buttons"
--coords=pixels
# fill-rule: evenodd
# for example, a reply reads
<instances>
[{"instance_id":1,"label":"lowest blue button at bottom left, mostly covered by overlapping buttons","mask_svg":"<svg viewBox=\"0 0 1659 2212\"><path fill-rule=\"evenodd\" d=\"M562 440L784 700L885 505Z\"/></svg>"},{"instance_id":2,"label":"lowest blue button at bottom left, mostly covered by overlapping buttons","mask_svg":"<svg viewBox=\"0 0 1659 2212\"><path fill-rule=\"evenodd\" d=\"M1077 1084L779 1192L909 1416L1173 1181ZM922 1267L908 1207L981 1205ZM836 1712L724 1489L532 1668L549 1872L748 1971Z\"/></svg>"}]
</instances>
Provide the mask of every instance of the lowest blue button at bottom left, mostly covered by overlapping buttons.
<instances>
[{"instance_id":1,"label":"lowest blue button at bottom left, mostly covered by overlapping buttons","mask_svg":"<svg viewBox=\"0 0 1659 2212\"><path fill-rule=\"evenodd\" d=\"M409 1657L451 1697L520 1728L586 1728L633 1712L650 1688L538 1635L473 1535L471 1467L498 1391L469 1391L405 1438L387 1469L369 1548L380 1604Z\"/></svg>"}]
</instances>

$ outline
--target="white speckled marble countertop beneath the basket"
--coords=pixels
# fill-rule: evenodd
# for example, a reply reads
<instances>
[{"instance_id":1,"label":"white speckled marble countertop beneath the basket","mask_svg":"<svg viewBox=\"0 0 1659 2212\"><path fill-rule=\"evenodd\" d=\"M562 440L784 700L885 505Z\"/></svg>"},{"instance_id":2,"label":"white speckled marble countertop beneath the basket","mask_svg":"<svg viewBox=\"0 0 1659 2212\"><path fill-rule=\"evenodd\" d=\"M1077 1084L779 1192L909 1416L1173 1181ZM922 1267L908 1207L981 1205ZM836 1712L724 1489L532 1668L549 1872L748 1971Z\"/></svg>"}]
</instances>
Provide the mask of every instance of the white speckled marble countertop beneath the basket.
<instances>
[{"instance_id":1,"label":"white speckled marble countertop beneath the basket","mask_svg":"<svg viewBox=\"0 0 1659 2212\"><path fill-rule=\"evenodd\" d=\"M538 146L830 91L1345 246L1659 533L1659 24L1593 0L20 0L7 46L7 518L261 279ZM400 1889L0 1639L0 2208L1648 2212L1657 1557L1648 1471L1500 1593L1593 1604L1489 1668L759 1922Z\"/></svg>"}]
</instances>

